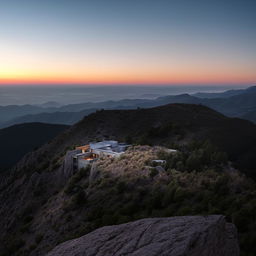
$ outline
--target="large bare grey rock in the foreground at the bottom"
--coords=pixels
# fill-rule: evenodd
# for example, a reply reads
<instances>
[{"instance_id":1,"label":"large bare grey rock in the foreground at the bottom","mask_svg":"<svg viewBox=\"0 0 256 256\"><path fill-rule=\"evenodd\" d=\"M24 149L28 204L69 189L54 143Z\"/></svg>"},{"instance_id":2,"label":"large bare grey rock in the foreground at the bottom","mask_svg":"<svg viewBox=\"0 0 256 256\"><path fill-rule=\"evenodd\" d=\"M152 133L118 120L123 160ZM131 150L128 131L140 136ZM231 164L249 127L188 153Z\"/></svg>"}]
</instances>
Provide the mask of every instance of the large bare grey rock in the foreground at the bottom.
<instances>
[{"instance_id":1,"label":"large bare grey rock in the foreground at the bottom","mask_svg":"<svg viewBox=\"0 0 256 256\"><path fill-rule=\"evenodd\" d=\"M237 232L224 216L142 219L99 228L47 256L238 256Z\"/></svg>"}]
</instances>

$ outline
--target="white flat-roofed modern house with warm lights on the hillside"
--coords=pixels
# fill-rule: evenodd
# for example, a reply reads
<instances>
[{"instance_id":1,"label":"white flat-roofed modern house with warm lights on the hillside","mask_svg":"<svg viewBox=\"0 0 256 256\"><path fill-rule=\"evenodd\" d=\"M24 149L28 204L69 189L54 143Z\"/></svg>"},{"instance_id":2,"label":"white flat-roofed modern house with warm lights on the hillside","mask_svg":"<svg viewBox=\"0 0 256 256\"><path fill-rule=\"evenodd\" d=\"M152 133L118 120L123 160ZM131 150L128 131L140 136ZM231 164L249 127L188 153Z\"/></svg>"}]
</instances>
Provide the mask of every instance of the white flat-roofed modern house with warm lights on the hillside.
<instances>
[{"instance_id":1,"label":"white flat-roofed modern house with warm lights on the hillside","mask_svg":"<svg viewBox=\"0 0 256 256\"><path fill-rule=\"evenodd\" d=\"M129 146L115 140L104 140L77 147L77 154L73 156L73 166L79 170L91 164L99 157L119 157Z\"/></svg>"}]
</instances>

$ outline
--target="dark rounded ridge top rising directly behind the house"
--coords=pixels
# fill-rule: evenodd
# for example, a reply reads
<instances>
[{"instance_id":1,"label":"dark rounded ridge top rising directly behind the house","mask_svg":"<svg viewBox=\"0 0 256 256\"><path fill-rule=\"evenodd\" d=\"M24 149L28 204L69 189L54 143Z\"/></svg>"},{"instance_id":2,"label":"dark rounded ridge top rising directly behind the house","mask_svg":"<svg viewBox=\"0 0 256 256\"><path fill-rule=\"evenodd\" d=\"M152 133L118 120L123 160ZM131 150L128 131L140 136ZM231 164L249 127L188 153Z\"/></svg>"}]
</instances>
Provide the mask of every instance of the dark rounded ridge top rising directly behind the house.
<instances>
[{"instance_id":1,"label":"dark rounded ridge top rising directly behind the house","mask_svg":"<svg viewBox=\"0 0 256 256\"><path fill-rule=\"evenodd\" d=\"M252 172L256 152L255 129L256 126L249 121L228 118L203 105L169 104L146 109L100 110L56 137L52 147L57 148L56 154L61 154L66 148L90 140L125 141L132 137L133 142L157 145L192 139L210 140L232 160ZM60 148L57 145L61 143L64 146ZM46 148L46 151L49 150Z\"/></svg>"}]
</instances>

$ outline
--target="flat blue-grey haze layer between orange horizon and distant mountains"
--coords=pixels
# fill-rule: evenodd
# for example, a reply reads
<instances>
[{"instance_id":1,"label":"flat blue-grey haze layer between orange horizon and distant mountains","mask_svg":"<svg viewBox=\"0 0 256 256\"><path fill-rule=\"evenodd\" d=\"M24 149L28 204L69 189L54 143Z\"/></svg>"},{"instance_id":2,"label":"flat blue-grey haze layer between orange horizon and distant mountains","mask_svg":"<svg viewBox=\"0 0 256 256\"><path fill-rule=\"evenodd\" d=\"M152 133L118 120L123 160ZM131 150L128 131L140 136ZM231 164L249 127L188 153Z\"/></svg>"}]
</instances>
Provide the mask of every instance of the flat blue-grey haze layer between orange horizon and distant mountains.
<instances>
[{"instance_id":1,"label":"flat blue-grey haze layer between orange horizon and distant mountains","mask_svg":"<svg viewBox=\"0 0 256 256\"><path fill-rule=\"evenodd\" d=\"M247 86L0 86L0 106L75 104L120 99L153 99L159 96L196 92L221 92Z\"/></svg>"}]
</instances>

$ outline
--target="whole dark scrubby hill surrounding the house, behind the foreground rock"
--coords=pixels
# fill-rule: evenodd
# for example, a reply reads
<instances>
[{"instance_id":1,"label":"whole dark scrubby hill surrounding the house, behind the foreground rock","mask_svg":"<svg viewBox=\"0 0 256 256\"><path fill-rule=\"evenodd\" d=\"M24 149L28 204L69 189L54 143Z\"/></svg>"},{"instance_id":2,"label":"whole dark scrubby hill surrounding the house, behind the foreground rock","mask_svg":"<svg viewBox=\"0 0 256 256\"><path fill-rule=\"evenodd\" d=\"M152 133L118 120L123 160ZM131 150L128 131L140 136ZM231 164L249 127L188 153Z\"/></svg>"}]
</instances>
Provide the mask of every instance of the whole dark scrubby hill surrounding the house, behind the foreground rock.
<instances>
[{"instance_id":1,"label":"whole dark scrubby hill surrounding the house, behind the foreground rock","mask_svg":"<svg viewBox=\"0 0 256 256\"><path fill-rule=\"evenodd\" d=\"M224 162L216 164L211 156L217 152L210 155L210 163L186 168L188 159L193 162L190 156L203 152L202 148L193 151L191 145L208 139L253 175L254 167L242 165L241 157L252 154L255 164L255 129L250 122L227 118L201 105L90 114L27 154L8 175L0 175L0 252L41 256L58 243L105 225L217 213L235 222L243 250L252 253L255 183ZM100 159L92 168L73 172L70 150L100 139L176 145L179 161L169 155L168 161L177 162L175 168L158 171L150 161L162 159L159 147L135 146L119 159Z\"/></svg>"}]
</instances>

